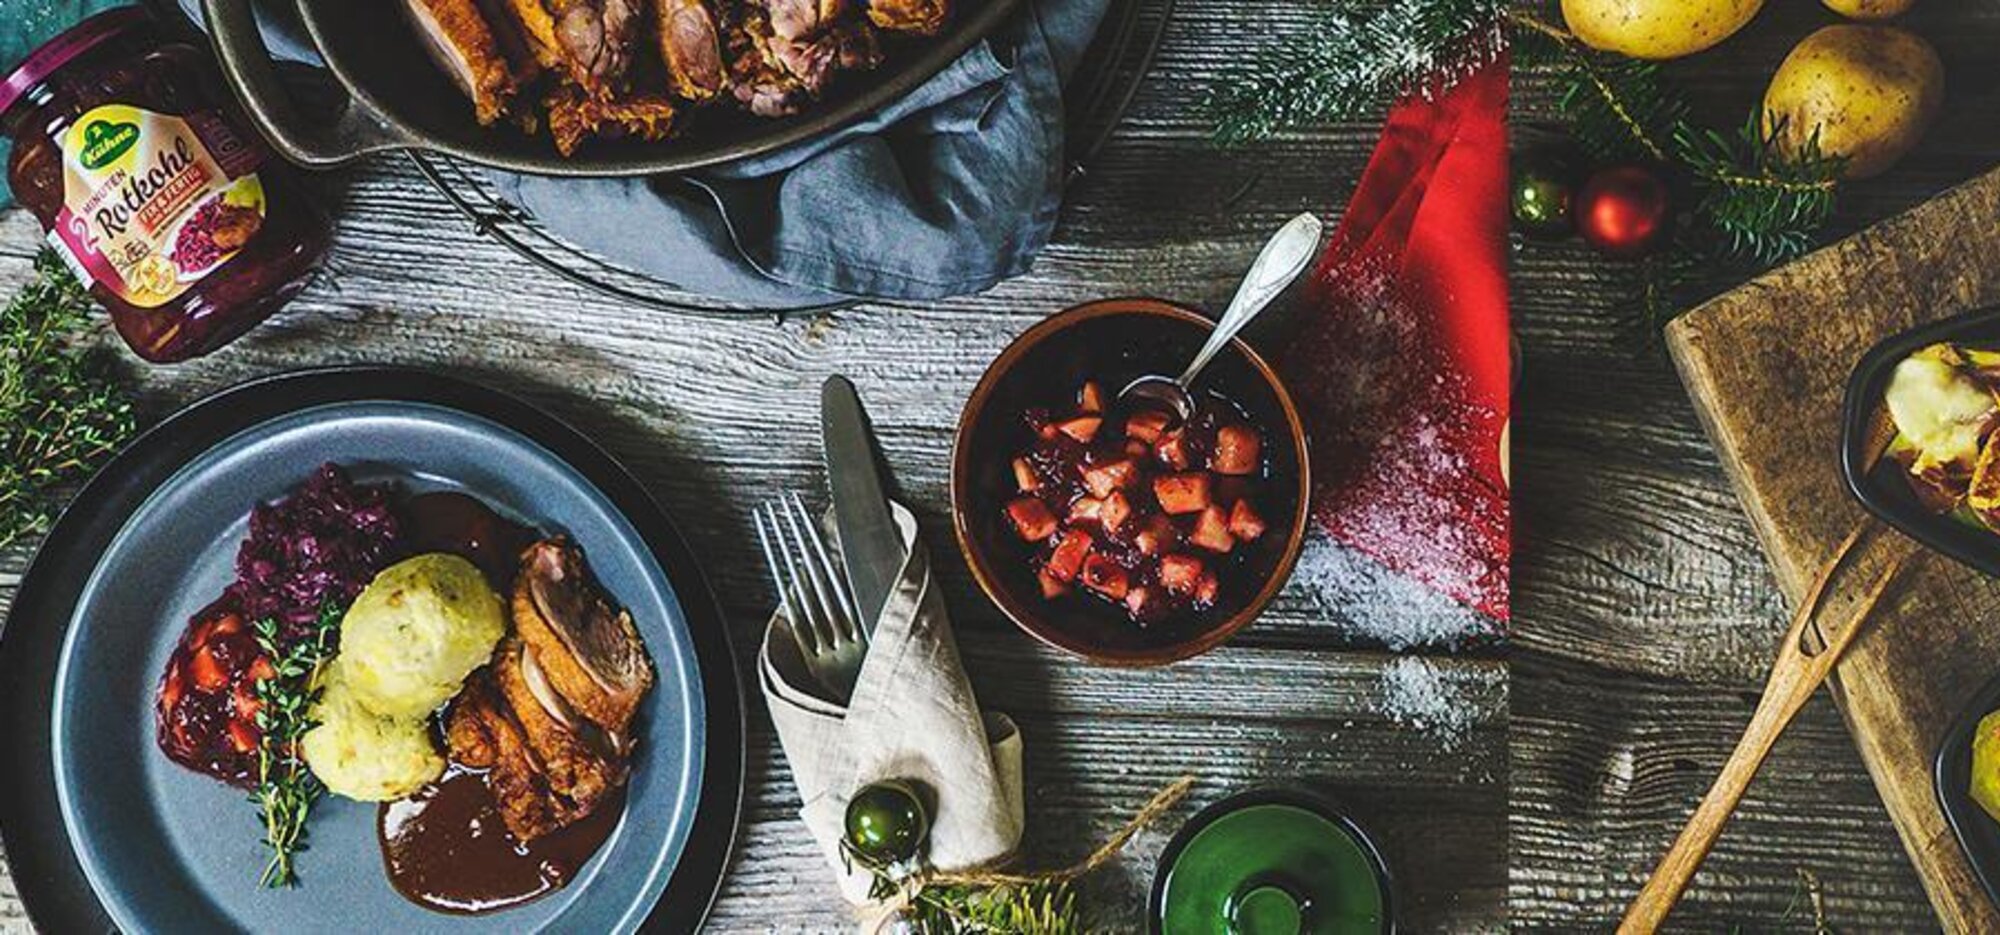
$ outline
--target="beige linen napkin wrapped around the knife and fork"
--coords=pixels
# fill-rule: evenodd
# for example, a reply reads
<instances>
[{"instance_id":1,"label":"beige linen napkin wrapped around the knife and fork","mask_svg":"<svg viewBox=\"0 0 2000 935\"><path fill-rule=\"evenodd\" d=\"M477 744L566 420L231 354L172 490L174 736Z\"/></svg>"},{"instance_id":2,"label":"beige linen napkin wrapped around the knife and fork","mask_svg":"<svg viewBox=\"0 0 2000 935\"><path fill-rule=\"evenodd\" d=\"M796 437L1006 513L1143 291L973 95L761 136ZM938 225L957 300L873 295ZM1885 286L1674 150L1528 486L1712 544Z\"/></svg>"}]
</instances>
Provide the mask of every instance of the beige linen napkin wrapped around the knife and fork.
<instances>
[{"instance_id":1,"label":"beige linen napkin wrapped around the knife and fork","mask_svg":"<svg viewBox=\"0 0 2000 935\"><path fill-rule=\"evenodd\" d=\"M1022 833L1020 731L1002 713L980 713L916 517L902 503L890 509L908 557L848 705L822 697L782 607L758 651L758 683L804 801L800 815L852 903L868 899L868 873L848 869L840 839L848 799L868 783L904 779L926 789L928 855L938 869L1004 861Z\"/></svg>"}]
</instances>

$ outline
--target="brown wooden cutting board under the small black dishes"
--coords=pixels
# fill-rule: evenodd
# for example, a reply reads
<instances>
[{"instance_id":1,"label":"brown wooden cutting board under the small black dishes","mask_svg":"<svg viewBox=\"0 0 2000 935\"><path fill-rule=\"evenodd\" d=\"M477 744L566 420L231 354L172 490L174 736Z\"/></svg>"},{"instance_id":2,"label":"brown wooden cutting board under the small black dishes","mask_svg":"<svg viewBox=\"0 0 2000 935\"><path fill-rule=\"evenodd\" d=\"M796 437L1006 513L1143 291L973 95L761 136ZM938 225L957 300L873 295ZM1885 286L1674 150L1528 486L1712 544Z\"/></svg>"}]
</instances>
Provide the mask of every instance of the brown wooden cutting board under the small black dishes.
<instances>
[{"instance_id":1,"label":"brown wooden cutting board under the small black dishes","mask_svg":"<svg viewBox=\"0 0 2000 935\"><path fill-rule=\"evenodd\" d=\"M2000 172L1728 292L1668 348L1794 601L1866 519L1840 481L1840 398L1876 340L2000 304ZM1834 697L1948 931L2000 931L1932 793L1952 717L2000 675L2000 583L1920 553L1834 673ZM1810 809L1812 803L1798 803Z\"/></svg>"}]
</instances>

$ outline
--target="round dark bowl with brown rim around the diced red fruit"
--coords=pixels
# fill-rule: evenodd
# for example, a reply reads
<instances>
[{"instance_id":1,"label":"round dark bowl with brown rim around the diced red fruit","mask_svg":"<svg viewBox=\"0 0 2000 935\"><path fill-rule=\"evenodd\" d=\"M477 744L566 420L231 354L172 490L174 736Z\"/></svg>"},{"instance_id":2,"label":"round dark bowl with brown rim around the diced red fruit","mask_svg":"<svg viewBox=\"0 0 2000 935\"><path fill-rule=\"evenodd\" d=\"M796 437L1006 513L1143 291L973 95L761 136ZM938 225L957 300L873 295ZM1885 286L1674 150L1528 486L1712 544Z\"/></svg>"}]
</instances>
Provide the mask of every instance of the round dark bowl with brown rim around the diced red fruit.
<instances>
[{"instance_id":1,"label":"round dark bowl with brown rim around the diced red fruit","mask_svg":"<svg viewBox=\"0 0 2000 935\"><path fill-rule=\"evenodd\" d=\"M1140 374L1180 374L1214 322L1162 300L1120 298L1064 310L1014 340L986 368L958 420L952 448L952 525L972 577L1036 639L1104 665L1162 665L1214 649L1246 627L1292 575L1306 535L1312 477L1292 394L1240 338L1202 372L1196 390L1220 390L1264 432L1270 475L1258 507L1270 531L1254 543L1234 593L1198 613L1140 627L1122 607L1068 595L1044 599L1026 547L1008 525L1010 464L1032 444L1022 414L1096 380L1116 392ZM1254 581L1248 589L1244 581Z\"/></svg>"}]
</instances>

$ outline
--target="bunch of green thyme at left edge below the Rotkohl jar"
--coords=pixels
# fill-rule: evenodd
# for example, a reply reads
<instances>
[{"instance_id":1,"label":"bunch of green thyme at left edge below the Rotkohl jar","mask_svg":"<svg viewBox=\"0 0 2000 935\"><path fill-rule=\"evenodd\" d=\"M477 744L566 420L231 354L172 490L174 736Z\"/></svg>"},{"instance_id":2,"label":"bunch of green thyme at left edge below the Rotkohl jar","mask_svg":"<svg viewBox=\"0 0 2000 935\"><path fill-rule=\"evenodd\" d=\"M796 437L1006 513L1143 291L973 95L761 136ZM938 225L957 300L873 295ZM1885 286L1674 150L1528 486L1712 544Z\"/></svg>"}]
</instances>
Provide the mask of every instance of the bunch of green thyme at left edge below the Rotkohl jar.
<instances>
[{"instance_id":1,"label":"bunch of green thyme at left edge below the Rotkohl jar","mask_svg":"<svg viewBox=\"0 0 2000 935\"><path fill-rule=\"evenodd\" d=\"M0 549L48 531L62 489L138 432L114 356L86 340L92 306L48 250L0 306Z\"/></svg>"}]
</instances>

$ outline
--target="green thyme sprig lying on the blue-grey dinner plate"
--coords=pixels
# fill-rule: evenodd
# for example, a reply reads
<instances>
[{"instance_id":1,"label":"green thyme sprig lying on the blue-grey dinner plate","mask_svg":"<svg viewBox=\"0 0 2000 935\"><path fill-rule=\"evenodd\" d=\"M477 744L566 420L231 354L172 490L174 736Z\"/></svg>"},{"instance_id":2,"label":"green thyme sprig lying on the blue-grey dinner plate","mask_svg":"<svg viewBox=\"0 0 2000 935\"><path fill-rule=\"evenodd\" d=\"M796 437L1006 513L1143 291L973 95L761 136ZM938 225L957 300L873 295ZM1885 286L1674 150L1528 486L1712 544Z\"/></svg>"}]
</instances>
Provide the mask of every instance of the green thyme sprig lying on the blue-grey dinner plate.
<instances>
[{"instance_id":1,"label":"green thyme sprig lying on the blue-grey dinner plate","mask_svg":"<svg viewBox=\"0 0 2000 935\"><path fill-rule=\"evenodd\" d=\"M264 845L270 847L270 863L258 879L266 887L298 883L292 857L306 849L306 815L326 791L306 767L298 739L314 727L320 667L334 655L342 613L344 607L326 601L312 629L290 645L280 645L276 619L252 623L256 643L272 665L272 675L256 683L258 783L250 795L264 817Z\"/></svg>"}]
</instances>

